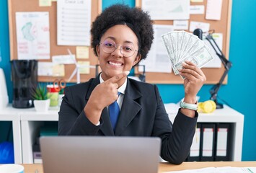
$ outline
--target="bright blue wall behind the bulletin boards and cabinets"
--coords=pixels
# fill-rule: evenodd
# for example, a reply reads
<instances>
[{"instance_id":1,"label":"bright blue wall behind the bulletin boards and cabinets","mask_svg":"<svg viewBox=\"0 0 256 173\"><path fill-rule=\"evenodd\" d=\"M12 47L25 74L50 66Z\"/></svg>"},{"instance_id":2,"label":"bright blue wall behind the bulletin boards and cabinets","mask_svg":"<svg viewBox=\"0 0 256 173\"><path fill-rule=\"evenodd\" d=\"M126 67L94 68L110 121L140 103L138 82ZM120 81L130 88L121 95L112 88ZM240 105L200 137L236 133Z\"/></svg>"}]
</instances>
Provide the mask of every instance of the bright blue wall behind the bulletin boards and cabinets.
<instances>
[{"instance_id":1,"label":"bright blue wall behind the bulletin boards and cabinets","mask_svg":"<svg viewBox=\"0 0 256 173\"><path fill-rule=\"evenodd\" d=\"M102 8L117 2L134 6L134 0L102 0ZM255 0L233 0L231 17L231 40L229 60L233 67L229 71L228 84L221 86L219 101L224 99L235 110L244 114L244 139L242 160L256 160L256 42L254 30L256 28ZM9 27L7 0L0 1L0 39L1 57L0 67L4 68L10 100L12 98L12 83L10 81L9 65ZM251 64L251 65L250 65ZM249 66L250 65L250 66ZM165 103L178 102L184 95L183 86L179 84L159 84L159 90ZM209 99L211 85L205 85L199 92L200 100ZM0 129L1 131L1 129ZM2 136L2 134L0 134Z\"/></svg>"}]
</instances>

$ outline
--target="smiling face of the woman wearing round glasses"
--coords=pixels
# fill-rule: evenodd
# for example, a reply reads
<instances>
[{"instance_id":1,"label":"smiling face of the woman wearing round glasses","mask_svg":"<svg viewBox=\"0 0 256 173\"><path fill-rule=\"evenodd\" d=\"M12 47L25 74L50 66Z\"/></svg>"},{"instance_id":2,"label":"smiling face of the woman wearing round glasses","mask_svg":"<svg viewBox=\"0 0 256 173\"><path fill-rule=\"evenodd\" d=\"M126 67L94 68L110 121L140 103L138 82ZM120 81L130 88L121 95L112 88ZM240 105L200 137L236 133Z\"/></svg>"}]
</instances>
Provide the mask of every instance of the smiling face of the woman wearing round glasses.
<instances>
[{"instance_id":1,"label":"smiling face of the woman wearing round glasses","mask_svg":"<svg viewBox=\"0 0 256 173\"><path fill-rule=\"evenodd\" d=\"M97 45L97 55L102 69L102 79L104 80L110 79L123 71L131 71L131 68L141 59L137 51L133 56L123 56L124 49L129 49L128 45L134 45L135 50L138 50L138 39L133 30L126 25L110 27L100 38L100 43L101 45ZM102 44L107 44L107 46L117 45L117 48L112 53L106 53L102 50ZM120 46L123 49L122 53L120 52Z\"/></svg>"}]
</instances>

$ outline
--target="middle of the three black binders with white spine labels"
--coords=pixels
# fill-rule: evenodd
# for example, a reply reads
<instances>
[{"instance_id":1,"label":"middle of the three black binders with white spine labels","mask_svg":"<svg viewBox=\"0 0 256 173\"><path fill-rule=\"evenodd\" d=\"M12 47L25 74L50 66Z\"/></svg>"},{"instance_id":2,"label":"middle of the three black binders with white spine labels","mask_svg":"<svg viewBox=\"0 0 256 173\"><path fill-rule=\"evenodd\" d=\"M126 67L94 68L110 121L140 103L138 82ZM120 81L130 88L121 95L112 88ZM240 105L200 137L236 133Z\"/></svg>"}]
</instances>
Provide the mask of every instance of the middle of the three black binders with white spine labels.
<instances>
[{"instance_id":1,"label":"middle of the three black binders with white spine labels","mask_svg":"<svg viewBox=\"0 0 256 173\"><path fill-rule=\"evenodd\" d=\"M200 143L200 161L214 161L215 123L202 124L202 142Z\"/></svg>"}]
</instances>

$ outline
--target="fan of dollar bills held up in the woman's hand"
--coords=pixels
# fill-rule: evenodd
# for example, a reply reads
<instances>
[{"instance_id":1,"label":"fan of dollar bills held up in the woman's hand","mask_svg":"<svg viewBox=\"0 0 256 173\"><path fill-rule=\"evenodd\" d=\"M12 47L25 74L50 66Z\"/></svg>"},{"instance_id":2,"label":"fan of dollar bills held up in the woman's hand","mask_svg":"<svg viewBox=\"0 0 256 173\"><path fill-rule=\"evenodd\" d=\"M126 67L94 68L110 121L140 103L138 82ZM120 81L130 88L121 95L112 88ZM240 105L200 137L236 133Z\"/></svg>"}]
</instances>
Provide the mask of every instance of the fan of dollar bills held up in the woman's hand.
<instances>
[{"instance_id":1,"label":"fan of dollar bills held up in the woman's hand","mask_svg":"<svg viewBox=\"0 0 256 173\"><path fill-rule=\"evenodd\" d=\"M178 69L182 68L182 62L184 61L192 61L201 68L213 60L209 48L198 36L189 32L167 32L162 35L162 40L164 41L175 74L179 74Z\"/></svg>"}]
</instances>

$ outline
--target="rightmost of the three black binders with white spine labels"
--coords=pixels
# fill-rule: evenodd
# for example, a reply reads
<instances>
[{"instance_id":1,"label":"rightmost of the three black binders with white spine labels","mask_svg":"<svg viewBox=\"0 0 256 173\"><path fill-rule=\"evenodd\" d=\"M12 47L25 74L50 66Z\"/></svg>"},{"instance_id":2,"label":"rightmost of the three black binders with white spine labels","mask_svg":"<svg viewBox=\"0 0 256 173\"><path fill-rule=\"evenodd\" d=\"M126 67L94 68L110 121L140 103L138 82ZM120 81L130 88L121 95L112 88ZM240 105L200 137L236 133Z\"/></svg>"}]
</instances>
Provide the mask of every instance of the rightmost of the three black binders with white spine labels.
<instances>
[{"instance_id":1,"label":"rightmost of the three black binders with white spine labels","mask_svg":"<svg viewBox=\"0 0 256 173\"><path fill-rule=\"evenodd\" d=\"M231 123L216 124L216 152L214 161L231 161Z\"/></svg>"}]
</instances>

